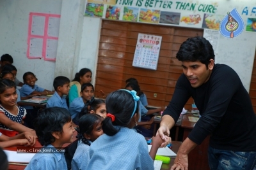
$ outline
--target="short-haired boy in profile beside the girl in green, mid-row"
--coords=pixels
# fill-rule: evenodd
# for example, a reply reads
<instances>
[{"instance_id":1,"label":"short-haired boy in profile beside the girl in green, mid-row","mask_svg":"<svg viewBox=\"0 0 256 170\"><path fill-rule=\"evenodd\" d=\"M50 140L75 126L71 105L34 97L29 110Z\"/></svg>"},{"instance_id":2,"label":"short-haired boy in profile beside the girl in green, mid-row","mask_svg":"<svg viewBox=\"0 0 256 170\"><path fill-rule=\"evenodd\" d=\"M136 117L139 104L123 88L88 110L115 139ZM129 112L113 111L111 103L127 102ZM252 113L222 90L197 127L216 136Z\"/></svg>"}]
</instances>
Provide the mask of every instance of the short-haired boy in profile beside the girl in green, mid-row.
<instances>
[{"instance_id":1,"label":"short-haired boy in profile beside the girl in green, mid-row","mask_svg":"<svg viewBox=\"0 0 256 170\"><path fill-rule=\"evenodd\" d=\"M58 76L54 78L53 87L55 89L52 97L47 101L46 108L60 107L68 109L66 96L69 92L70 80L65 76Z\"/></svg>"}]
</instances>

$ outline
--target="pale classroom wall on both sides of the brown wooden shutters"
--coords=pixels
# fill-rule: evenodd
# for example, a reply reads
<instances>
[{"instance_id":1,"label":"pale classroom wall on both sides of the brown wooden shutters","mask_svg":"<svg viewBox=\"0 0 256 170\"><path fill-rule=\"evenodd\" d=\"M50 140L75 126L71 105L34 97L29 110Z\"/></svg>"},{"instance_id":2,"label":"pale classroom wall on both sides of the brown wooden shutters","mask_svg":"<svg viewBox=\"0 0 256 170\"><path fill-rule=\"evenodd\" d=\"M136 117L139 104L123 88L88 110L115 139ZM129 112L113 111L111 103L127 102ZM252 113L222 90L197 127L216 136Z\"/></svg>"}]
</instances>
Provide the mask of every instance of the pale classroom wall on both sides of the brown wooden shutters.
<instances>
[{"instance_id":1,"label":"pale classroom wall on both sides of the brown wooden shutters","mask_svg":"<svg viewBox=\"0 0 256 170\"><path fill-rule=\"evenodd\" d=\"M220 10L236 7L241 13L241 8L246 5L250 8L256 6L255 2L241 0L229 0L225 3L227 5L220 6ZM13 56L13 65L19 71L17 74L19 80L22 80L22 75L26 71L32 71L38 76L38 85L52 90L52 81L55 76L63 75L72 79L79 69L88 67L93 71L92 83L95 83L101 19L83 17L85 4L86 0L0 1L2 23L0 41L3 42L0 45L0 52L10 53ZM29 12L61 15L56 63L26 57ZM247 17L255 17L254 15L243 15L244 24ZM220 36L218 52L216 52L216 62L228 64L235 69L247 90L250 89L255 38L255 32L246 31L234 39Z\"/></svg>"}]
</instances>

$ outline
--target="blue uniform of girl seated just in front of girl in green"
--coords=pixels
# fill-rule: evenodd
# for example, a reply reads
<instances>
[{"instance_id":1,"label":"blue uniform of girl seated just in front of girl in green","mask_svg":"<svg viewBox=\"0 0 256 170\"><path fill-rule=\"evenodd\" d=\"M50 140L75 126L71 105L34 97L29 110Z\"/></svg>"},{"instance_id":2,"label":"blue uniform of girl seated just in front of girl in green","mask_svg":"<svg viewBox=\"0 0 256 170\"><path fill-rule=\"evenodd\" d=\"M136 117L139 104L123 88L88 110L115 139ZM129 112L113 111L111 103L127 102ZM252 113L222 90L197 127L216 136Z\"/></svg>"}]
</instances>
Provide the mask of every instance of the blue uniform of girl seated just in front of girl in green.
<instances>
[{"instance_id":1,"label":"blue uniform of girl seated just in front of girl in green","mask_svg":"<svg viewBox=\"0 0 256 170\"><path fill-rule=\"evenodd\" d=\"M68 111L70 112L72 120L73 118L78 117L83 107L84 107L84 101L82 97L77 97L72 101L71 104L69 104Z\"/></svg>"}]
</instances>

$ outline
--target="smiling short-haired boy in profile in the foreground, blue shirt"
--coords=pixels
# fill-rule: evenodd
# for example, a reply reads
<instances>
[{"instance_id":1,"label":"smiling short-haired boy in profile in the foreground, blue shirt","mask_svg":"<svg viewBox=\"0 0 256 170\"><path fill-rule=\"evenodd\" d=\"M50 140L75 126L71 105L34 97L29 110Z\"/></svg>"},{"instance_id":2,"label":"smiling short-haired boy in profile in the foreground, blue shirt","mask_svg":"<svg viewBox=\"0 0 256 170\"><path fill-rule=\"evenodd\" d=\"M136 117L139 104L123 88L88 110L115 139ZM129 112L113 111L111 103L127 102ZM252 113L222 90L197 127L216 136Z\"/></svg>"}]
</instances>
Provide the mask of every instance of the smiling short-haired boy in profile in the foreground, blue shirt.
<instances>
[{"instance_id":1,"label":"smiling short-haired boy in profile in the foreground, blue shirt","mask_svg":"<svg viewBox=\"0 0 256 170\"><path fill-rule=\"evenodd\" d=\"M46 108L36 118L35 131L43 148L30 160L26 170L67 170L63 144L71 143L75 131L70 113L64 108Z\"/></svg>"}]
</instances>

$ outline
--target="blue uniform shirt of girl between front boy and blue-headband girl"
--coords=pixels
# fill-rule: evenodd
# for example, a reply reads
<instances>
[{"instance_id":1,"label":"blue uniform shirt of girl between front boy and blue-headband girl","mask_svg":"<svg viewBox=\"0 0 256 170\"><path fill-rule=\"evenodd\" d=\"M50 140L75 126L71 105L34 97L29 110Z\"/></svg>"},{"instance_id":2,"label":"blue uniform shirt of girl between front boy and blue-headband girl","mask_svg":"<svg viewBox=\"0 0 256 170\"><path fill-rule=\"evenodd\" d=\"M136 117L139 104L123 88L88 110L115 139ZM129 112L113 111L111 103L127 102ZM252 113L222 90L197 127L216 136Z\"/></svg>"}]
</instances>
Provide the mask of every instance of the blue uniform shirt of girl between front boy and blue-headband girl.
<instances>
[{"instance_id":1,"label":"blue uniform shirt of girl between front boy and blue-headband girl","mask_svg":"<svg viewBox=\"0 0 256 170\"><path fill-rule=\"evenodd\" d=\"M71 162L72 170L86 169L88 162L90 161L90 146L79 140L76 152Z\"/></svg>"}]
</instances>

